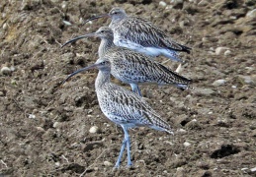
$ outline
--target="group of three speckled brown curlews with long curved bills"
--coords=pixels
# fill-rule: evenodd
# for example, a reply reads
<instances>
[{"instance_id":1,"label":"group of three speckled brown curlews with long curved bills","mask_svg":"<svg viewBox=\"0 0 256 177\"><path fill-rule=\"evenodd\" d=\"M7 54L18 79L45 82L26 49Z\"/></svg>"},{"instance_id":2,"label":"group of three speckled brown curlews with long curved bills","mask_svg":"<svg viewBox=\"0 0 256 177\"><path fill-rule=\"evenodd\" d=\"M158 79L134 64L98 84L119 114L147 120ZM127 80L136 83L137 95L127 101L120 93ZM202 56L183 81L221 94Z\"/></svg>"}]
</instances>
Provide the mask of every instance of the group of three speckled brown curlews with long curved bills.
<instances>
[{"instance_id":1,"label":"group of three speckled brown curlews with long curved bills","mask_svg":"<svg viewBox=\"0 0 256 177\"><path fill-rule=\"evenodd\" d=\"M95 89L100 108L103 114L120 125L125 133L115 167L120 167L126 148L129 167L132 165L129 128L143 126L173 135L171 126L142 98L138 85L147 83L189 89L192 80L154 61L154 57L162 55L182 62L179 52L190 53L191 48L172 40L151 22L128 16L122 8L113 8L108 14L91 18L85 23L104 17L111 18L109 27L78 36L62 45L63 47L85 37L101 38L99 59L95 64L70 74L63 83L83 71L99 70ZM132 91L111 83L111 75L128 84Z\"/></svg>"}]
</instances>

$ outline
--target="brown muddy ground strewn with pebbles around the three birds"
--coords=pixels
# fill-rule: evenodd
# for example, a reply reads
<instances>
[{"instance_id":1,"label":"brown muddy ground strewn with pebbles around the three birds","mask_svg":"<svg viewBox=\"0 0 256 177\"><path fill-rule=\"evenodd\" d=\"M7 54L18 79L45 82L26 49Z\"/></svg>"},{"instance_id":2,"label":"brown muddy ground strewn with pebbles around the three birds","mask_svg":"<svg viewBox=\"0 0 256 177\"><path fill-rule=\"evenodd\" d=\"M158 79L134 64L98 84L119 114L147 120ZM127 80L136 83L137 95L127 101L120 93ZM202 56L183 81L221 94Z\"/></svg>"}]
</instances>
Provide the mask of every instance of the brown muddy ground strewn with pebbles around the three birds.
<instances>
[{"instance_id":1,"label":"brown muddy ground strewn with pebbles around the three birds","mask_svg":"<svg viewBox=\"0 0 256 177\"><path fill-rule=\"evenodd\" d=\"M191 46L181 74L194 80L185 91L141 87L175 135L130 130L133 166L125 155L118 170L124 133L99 109L97 71L59 87L96 61L99 39L60 45L108 26L81 23L114 6ZM256 176L255 8L253 0L1 0L0 176Z\"/></svg>"}]
</instances>

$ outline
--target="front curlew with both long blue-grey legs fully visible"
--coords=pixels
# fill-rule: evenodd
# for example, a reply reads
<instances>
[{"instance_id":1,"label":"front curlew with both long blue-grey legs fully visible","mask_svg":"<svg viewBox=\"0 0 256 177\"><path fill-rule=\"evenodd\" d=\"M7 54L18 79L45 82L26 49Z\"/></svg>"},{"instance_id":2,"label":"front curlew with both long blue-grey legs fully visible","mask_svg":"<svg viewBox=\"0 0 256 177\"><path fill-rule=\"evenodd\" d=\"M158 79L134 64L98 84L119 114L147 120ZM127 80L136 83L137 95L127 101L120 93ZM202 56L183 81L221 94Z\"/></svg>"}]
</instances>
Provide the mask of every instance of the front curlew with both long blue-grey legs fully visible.
<instances>
[{"instance_id":1,"label":"front curlew with both long blue-grey legs fully visible","mask_svg":"<svg viewBox=\"0 0 256 177\"><path fill-rule=\"evenodd\" d=\"M89 69L98 69L95 81L95 90L99 106L103 114L112 122L120 125L125 133L120 154L115 167L120 167L121 158L125 148L128 150L128 167L130 160L130 141L128 129L135 127L149 127L158 131L165 131L171 135L171 126L154 111L149 104L136 93L111 83L111 62L99 58L95 64L82 68L70 74L62 83L64 84L74 75Z\"/></svg>"}]
</instances>

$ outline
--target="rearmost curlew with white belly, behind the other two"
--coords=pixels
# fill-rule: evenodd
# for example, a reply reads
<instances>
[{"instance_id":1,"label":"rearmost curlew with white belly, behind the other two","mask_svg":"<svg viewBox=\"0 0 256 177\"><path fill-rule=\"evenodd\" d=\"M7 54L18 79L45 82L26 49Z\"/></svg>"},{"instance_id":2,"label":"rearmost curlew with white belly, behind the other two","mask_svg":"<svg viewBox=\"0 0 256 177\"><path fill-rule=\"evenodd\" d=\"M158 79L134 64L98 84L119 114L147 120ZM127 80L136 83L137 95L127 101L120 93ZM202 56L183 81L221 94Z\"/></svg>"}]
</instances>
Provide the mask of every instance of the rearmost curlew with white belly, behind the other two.
<instances>
[{"instance_id":1,"label":"rearmost curlew with white belly, behind the other two","mask_svg":"<svg viewBox=\"0 0 256 177\"><path fill-rule=\"evenodd\" d=\"M171 60L183 62L178 52L190 53L192 48L172 40L162 29L151 22L128 16L122 8L113 8L109 14L93 17L84 22L108 17L111 18L109 27L114 32L114 43L132 50L156 57L163 55Z\"/></svg>"}]
</instances>

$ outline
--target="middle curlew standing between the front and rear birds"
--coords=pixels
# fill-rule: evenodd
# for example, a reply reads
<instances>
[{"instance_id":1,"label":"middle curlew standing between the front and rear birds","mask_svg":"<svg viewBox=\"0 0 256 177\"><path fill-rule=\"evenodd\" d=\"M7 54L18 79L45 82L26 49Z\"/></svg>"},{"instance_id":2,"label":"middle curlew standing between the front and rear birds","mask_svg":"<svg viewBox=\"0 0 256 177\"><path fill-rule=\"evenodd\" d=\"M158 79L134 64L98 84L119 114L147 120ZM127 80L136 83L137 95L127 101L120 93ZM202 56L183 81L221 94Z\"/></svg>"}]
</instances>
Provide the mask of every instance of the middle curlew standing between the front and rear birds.
<instances>
[{"instance_id":1,"label":"middle curlew standing between the front and rear birds","mask_svg":"<svg viewBox=\"0 0 256 177\"><path fill-rule=\"evenodd\" d=\"M140 96L138 84L173 85L180 89L188 89L192 83L192 80L171 71L154 61L152 57L116 46L113 42L113 30L109 27L101 27L96 32L75 37L65 42L62 47L89 36L101 38L98 55L112 63L111 74L123 83L129 84L131 89Z\"/></svg>"}]
</instances>

